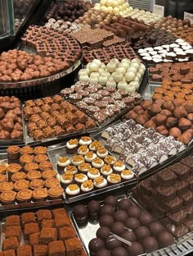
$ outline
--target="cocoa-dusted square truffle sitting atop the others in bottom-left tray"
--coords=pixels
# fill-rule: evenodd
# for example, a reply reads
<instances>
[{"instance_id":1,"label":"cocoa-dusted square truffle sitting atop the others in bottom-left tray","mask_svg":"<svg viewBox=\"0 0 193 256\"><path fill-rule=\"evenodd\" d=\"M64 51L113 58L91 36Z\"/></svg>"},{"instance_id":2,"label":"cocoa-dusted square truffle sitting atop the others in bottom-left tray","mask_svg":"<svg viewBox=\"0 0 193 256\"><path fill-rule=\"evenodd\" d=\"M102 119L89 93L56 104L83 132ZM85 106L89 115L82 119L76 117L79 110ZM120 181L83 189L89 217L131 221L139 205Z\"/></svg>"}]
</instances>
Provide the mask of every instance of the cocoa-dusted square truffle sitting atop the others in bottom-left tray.
<instances>
[{"instance_id":1,"label":"cocoa-dusted square truffle sitting atop the others in bottom-left tray","mask_svg":"<svg viewBox=\"0 0 193 256\"><path fill-rule=\"evenodd\" d=\"M40 242L41 244L49 244L57 240L56 228L44 227L40 232Z\"/></svg>"}]
</instances>

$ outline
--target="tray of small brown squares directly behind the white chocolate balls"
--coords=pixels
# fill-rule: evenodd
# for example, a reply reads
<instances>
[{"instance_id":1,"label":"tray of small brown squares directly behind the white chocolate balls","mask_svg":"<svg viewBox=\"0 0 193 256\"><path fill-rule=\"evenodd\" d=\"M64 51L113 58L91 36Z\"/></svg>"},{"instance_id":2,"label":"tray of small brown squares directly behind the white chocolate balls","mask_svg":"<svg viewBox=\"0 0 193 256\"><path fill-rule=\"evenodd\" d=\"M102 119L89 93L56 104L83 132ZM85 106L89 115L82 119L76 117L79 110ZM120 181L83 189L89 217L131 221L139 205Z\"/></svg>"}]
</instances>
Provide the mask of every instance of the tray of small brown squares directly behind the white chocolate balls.
<instances>
[{"instance_id":1,"label":"tray of small brown squares directly behind the white chocolate balls","mask_svg":"<svg viewBox=\"0 0 193 256\"><path fill-rule=\"evenodd\" d=\"M84 47L83 48L84 60L88 63L88 62L94 61L94 59L97 59L105 63L106 65L113 58L118 59L119 62L121 62L123 58L128 58L130 60L132 60L133 58L137 58L137 54L134 52L130 44L125 41L123 42L123 39L120 39L116 36L114 36L114 39L105 41L103 45L104 45L103 47L96 48L96 49Z\"/></svg>"}]
</instances>

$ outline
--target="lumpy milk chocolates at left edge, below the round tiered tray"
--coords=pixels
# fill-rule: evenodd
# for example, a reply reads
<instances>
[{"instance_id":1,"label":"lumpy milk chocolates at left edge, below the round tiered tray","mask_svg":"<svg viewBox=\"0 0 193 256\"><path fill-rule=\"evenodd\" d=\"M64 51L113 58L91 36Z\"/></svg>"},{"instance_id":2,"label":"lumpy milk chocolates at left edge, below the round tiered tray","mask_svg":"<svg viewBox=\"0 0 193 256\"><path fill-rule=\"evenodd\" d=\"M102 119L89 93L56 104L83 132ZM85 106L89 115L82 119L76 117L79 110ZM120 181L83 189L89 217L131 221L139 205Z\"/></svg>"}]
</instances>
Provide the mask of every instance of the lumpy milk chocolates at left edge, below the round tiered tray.
<instances>
[{"instance_id":1,"label":"lumpy milk chocolates at left edge, below the round tiered tray","mask_svg":"<svg viewBox=\"0 0 193 256\"><path fill-rule=\"evenodd\" d=\"M20 99L0 97L0 139L23 139Z\"/></svg>"}]
</instances>

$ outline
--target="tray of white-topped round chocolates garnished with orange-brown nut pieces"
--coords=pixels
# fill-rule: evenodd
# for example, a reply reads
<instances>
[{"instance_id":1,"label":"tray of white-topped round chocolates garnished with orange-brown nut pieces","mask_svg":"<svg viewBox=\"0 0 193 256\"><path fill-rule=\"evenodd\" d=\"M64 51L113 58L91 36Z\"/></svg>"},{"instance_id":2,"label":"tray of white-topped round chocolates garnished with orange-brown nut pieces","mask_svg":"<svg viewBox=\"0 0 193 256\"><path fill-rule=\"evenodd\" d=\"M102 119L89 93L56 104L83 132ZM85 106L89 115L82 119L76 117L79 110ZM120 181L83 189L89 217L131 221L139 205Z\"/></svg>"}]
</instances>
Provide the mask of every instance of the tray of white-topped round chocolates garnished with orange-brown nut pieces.
<instances>
[{"instance_id":1,"label":"tray of white-topped round chocolates garnished with orange-brown nut pieces","mask_svg":"<svg viewBox=\"0 0 193 256\"><path fill-rule=\"evenodd\" d=\"M61 149L56 162L67 200L123 181L133 181L134 173L111 156L99 140L88 136L70 139L65 150Z\"/></svg>"}]
</instances>

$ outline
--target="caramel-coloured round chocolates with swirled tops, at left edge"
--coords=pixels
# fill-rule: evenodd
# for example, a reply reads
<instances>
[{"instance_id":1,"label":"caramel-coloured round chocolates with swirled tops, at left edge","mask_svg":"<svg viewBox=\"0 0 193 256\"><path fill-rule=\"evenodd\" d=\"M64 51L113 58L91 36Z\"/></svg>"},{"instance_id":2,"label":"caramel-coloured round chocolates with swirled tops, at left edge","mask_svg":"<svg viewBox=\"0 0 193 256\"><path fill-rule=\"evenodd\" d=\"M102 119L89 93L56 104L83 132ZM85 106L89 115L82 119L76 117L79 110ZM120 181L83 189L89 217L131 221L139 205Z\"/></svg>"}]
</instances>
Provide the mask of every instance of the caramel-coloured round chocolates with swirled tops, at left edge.
<instances>
[{"instance_id":1,"label":"caramel-coloured round chocolates with swirled tops, at left edge","mask_svg":"<svg viewBox=\"0 0 193 256\"><path fill-rule=\"evenodd\" d=\"M62 199L63 190L56 178L46 147L7 148L8 165L0 166L0 202L34 203Z\"/></svg>"}]
</instances>

